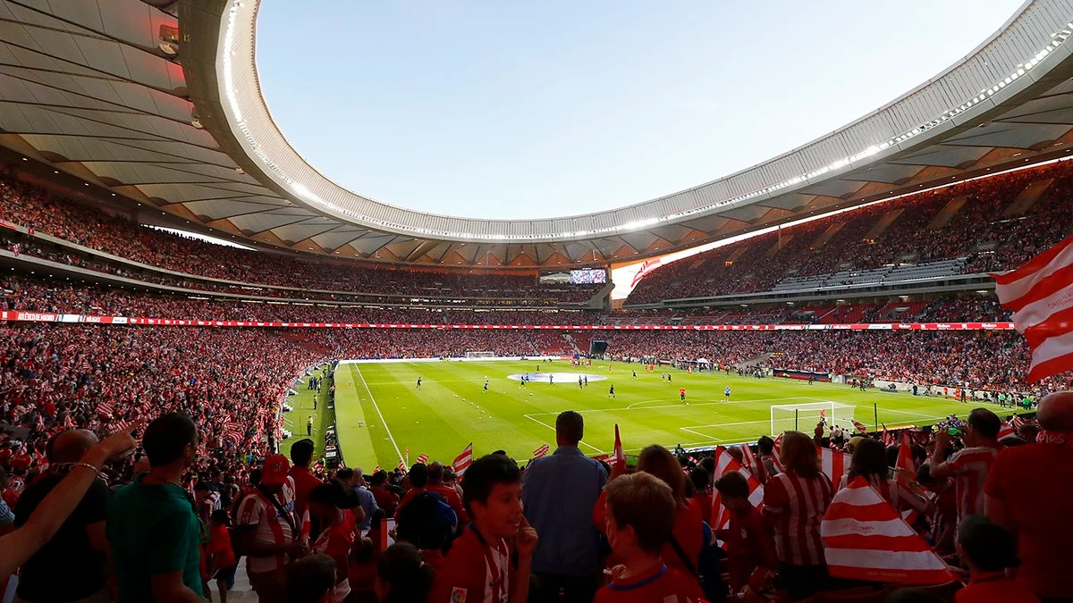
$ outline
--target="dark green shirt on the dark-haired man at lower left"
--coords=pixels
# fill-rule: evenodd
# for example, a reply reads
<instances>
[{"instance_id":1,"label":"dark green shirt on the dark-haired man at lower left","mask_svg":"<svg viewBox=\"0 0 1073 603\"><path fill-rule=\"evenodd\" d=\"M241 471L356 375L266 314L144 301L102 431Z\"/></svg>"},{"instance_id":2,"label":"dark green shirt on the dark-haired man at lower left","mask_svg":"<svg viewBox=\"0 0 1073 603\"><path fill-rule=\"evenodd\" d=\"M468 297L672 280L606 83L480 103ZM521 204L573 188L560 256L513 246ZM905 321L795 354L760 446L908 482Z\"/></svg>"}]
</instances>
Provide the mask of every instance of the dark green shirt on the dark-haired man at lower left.
<instances>
[{"instance_id":1,"label":"dark green shirt on the dark-haired man at lower left","mask_svg":"<svg viewBox=\"0 0 1073 603\"><path fill-rule=\"evenodd\" d=\"M201 521L187 490L143 484L139 473L116 492L107 535L116 562L119 603L153 601L152 576L182 571L182 584L199 595Z\"/></svg>"}]
</instances>

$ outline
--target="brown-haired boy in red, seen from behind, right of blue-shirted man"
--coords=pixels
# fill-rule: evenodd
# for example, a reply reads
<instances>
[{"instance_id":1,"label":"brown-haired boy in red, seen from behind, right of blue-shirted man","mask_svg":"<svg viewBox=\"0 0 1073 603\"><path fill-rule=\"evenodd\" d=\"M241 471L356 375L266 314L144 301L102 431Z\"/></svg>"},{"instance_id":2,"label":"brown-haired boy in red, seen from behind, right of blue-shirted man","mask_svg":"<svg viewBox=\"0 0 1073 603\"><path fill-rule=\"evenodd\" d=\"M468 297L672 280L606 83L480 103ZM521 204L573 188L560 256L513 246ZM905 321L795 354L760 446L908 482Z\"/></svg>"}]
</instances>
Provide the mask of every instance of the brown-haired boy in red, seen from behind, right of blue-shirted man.
<instances>
[{"instance_id":1,"label":"brown-haired boy in red, seen from behind, right of blue-shirted man","mask_svg":"<svg viewBox=\"0 0 1073 603\"><path fill-rule=\"evenodd\" d=\"M671 486L648 473L607 483L607 540L622 561L593 603L699 603L704 594L693 576L663 563L660 550L671 536L677 503Z\"/></svg>"}]
</instances>

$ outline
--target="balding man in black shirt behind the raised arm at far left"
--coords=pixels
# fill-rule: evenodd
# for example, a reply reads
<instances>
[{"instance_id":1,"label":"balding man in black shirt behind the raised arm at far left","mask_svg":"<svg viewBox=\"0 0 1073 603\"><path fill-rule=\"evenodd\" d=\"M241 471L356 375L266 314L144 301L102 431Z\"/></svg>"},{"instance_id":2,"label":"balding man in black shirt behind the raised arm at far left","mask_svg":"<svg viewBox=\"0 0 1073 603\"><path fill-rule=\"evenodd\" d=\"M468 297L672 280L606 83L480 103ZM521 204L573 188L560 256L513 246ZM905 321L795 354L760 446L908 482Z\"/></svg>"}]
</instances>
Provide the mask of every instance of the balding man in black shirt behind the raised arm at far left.
<instances>
[{"instance_id":1,"label":"balding man in black shirt behind the raised arm at far left","mask_svg":"<svg viewBox=\"0 0 1073 603\"><path fill-rule=\"evenodd\" d=\"M97 436L86 429L72 429L57 436L48 450L50 471L30 484L15 508L15 525L21 526L67 474L70 464L82 458ZM95 480L74 513L63 523L53 540L23 565L15 601L34 603L111 601L104 577L107 540L104 521L112 491Z\"/></svg>"}]
</instances>

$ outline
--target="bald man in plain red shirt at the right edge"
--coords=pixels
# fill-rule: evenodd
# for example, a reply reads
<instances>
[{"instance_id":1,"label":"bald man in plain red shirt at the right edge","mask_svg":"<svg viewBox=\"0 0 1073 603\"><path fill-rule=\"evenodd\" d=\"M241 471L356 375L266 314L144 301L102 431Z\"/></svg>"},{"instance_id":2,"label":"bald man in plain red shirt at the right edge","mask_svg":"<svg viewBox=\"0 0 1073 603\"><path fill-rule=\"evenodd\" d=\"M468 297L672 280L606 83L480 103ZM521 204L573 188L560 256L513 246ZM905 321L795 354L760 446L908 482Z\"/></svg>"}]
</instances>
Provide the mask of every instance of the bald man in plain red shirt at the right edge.
<instances>
[{"instance_id":1,"label":"bald man in plain red shirt at the right edge","mask_svg":"<svg viewBox=\"0 0 1073 603\"><path fill-rule=\"evenodd\" d=\"M1040 401L1037 443L1005 448L984 488L987 516L1017 536L1017 579L1044 603L1073 602L1073 392Z\"/></svg>"}]
</instances>

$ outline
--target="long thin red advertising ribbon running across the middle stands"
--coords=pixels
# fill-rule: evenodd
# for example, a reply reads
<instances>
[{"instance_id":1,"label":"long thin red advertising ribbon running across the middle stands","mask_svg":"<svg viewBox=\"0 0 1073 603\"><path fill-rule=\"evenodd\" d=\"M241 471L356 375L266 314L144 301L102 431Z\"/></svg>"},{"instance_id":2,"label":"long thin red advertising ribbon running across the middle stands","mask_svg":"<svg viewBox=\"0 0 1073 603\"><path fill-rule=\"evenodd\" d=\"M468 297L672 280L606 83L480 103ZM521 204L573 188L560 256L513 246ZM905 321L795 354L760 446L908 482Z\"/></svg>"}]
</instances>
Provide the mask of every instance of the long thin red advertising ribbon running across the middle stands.
<instances>
[{"instance_id":1,"label":"long thin red advertising ribbon running across the middle stands","mask_svg":"<svg viewBox=\"0 0 1073 603\"><path fill-rule=\"evenodd\" d=\"M429 324L429 323L322 323L277 321L214 321L186 319L150 319L141 317L98 317L0 310L0 321L64 322L92 324L133 324L149 326L234 326L269 328L461 328L461 329L547 329L547 330L1013 330L1011 322L993 323L876 323L876 324L695 324L695 325L501 325L501 324ZM807 378L807 377L806 377Z\"/></svg>"}]
</instances>

